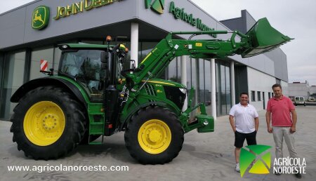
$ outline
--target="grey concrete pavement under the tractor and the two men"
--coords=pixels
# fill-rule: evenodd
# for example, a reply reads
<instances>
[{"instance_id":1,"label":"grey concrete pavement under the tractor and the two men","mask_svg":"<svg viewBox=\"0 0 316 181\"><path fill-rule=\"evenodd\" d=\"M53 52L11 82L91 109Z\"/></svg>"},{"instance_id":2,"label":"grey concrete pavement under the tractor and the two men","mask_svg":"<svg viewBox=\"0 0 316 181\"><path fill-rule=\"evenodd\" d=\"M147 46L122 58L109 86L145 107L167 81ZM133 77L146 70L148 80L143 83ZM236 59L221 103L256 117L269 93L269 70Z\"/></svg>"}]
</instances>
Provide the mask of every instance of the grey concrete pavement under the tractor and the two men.
<instances>
[{"instance_id":1,"label":"grey concrete pavement under the tractor and the two men","mask_svg":"<svg viewBox=\"0 0 316 181\"><path fill-rule=\"evenodd\" d=\"M301 180L316 177L316 107L296 107L298 123L296 149L306 160L307 173ZM272 146L272 161L275 145L272 134L266 130L265 112L259 113L260 126L257 142ZM236 173L234 158L234 133L228 116L216 120L214 133L185 134L183 149L171 163L143 166L134 161L124 145L124 133L117 133L104 140L103 145L80 145L65 158L52 161L34 161L19 152L12 142L9 129L11 122L0 121L0 180L298 180L294 175L256 175ZM244 146L246 143L244 144ZM284 144L284 157L289 156ZM8 171L8 166L129 166L129 171ZM273 164L273 162L272 162Z\"/></svg>"}]
</instances>

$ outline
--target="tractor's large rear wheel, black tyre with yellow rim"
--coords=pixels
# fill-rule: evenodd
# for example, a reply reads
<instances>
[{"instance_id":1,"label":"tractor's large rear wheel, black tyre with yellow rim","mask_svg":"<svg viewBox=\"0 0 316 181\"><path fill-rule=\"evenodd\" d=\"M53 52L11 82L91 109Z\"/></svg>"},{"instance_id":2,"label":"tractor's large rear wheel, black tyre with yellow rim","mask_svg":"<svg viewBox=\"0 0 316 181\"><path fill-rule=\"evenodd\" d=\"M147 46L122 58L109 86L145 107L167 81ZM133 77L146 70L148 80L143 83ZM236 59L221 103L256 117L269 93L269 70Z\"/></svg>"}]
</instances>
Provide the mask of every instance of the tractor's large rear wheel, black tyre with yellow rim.
<instances>
[{"instance_id":1,"label":"tractor's large rear wheel, black tyre with yellow rim","mask_svg":"<svg viewBox=\"0 0 316 181\"><path fill-rule=\"evenodd\" d=\"M62 88L45 86L31 90L13 112L13 142L33 159L65 156L84 136L84 108Z\"/></svg>"}]
</instances>

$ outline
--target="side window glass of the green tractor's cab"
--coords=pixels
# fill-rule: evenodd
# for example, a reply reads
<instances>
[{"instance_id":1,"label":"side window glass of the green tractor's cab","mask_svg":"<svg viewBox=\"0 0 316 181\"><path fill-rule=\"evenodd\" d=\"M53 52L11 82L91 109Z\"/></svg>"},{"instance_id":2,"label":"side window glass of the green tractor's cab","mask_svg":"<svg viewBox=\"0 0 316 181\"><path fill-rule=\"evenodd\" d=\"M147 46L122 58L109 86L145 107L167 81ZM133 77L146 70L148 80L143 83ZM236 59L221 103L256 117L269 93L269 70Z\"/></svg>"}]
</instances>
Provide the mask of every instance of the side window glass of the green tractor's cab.
<instances>
[{"instance_id":1,"label":"side window glass of the green tractor's cab","mask_svg":"<svg viewBox=\"0 0 316 181\"><path fill-rule=\"evenodd\" d=\"M98 50L65 51L60 58L59 74L67 74L77 79L90 95L91 101L103 98L103 77L101 52Z\"/></svg>"}]
</instances>

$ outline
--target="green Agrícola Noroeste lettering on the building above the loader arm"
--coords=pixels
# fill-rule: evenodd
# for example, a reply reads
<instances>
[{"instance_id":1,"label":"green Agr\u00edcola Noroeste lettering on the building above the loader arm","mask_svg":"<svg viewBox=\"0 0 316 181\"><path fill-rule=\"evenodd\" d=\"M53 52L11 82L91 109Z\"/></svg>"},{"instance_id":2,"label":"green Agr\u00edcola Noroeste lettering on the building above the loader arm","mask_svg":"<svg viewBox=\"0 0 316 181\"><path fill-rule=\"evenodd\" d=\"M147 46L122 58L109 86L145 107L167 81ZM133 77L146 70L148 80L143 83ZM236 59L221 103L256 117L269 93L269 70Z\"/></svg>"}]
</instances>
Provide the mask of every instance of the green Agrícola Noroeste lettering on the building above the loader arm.
<instances>
[{"instance_id":1,"label":"green Agr\u00edcola Noroeste lettering on the building above the loader arm","mask_svg":"<svg viewBox=\"0 0 316 181\"><path fill-rule=\"evenodd\" d=\"M172 13L174 15L174 18L183 20L189 23L190 25L197 27L197 29L200 29L202 31L215 30L214 28L210 28L207 25L205 25L201 19L194 18L194 15L192 15L192 13L190 14L186 13L184 8L176 7L173 1L171 1L170 3L169 13ZM216 38L217 34L211 34L211 36Z\"/></svg>"}]
</instances>

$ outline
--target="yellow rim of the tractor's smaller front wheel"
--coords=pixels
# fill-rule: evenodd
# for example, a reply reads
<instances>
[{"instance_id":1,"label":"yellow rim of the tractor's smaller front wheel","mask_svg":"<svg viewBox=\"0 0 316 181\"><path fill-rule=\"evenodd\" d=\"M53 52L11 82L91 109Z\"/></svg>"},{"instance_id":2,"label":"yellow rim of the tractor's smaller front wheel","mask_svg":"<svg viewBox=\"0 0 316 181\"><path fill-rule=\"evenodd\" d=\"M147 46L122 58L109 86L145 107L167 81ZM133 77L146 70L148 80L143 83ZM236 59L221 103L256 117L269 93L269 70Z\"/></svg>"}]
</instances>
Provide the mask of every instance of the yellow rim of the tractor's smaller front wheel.
<instances>
[{"instance_id":1,"label":"yellow rim of the tractor's smaller front wheel","mask_svg":"<svg viewBox=\"0 0 316 181\"><path fill-rule=\"evenodd\" d=\"M142 149L150 154L164 152L171 143L169 126L159 119L151 119L143 123L138 131L138 142Z\"/></svg>"}]
</instances>

